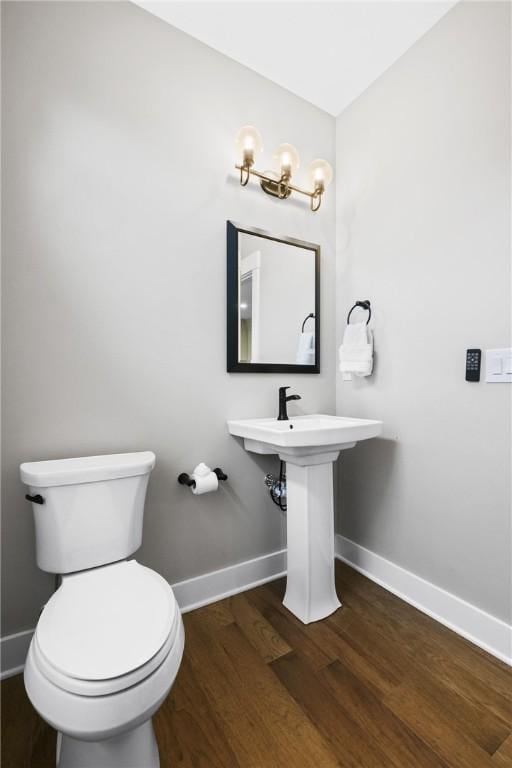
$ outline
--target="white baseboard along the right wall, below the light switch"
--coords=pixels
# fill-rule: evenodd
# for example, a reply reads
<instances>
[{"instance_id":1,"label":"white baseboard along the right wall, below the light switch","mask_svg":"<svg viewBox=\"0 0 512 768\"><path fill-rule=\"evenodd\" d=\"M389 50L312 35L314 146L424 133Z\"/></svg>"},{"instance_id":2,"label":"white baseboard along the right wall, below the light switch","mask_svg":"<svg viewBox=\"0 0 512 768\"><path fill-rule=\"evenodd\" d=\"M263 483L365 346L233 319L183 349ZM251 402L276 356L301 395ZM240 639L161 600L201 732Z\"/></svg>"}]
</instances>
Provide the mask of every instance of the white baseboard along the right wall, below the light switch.
<instances>
[{"instance_id":1,"label":"white baseboard along the right wall, below the light switch","mask_svg":"<svg viewBox=\"0 0 512 768\"><path fill-rule=\"evenodd\" d=\"M336 535L336 557L512 666L512 626L390 560Z\"/></svg>"}]
</instances>

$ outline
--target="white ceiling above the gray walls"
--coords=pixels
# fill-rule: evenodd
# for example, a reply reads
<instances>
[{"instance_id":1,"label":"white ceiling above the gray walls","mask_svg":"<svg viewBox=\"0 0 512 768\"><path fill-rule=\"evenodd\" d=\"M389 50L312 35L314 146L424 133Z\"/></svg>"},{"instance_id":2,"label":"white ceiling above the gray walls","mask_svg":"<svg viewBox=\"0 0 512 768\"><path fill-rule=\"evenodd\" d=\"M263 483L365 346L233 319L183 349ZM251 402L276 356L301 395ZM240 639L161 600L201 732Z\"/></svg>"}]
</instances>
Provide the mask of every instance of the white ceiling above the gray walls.
<instances>
[{"instance_id":1,"label":"white ceiling above the gray walls","mask_svg":"<svg viewBox=\"0 0 512 768\"><path fill-rule=\"evenodd\" d=\"M339 113L455 2L136 0L329 112Z\"/></svg>"}]
</instances>

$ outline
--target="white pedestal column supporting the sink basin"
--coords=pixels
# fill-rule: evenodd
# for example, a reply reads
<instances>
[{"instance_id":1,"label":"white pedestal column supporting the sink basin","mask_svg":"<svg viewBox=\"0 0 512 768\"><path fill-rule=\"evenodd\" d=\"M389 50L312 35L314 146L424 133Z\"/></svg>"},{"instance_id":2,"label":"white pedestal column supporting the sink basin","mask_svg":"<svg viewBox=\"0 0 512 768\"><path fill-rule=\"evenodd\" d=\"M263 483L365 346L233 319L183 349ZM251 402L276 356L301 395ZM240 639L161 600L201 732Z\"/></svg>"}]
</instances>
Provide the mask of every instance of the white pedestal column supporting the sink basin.
<instances>
[{"instance_id":1,"label":"white pedestal column supporting the sink basin","mask_svg":"<svg viewBox=\"0 0 512 768\"><path fill-rule=\"evenodd\" d=\"M339 451L286 461L288 577L283 605L304 624L324 619L341 603L334 584L332 465Z\"/></svg>"}]
</instances>

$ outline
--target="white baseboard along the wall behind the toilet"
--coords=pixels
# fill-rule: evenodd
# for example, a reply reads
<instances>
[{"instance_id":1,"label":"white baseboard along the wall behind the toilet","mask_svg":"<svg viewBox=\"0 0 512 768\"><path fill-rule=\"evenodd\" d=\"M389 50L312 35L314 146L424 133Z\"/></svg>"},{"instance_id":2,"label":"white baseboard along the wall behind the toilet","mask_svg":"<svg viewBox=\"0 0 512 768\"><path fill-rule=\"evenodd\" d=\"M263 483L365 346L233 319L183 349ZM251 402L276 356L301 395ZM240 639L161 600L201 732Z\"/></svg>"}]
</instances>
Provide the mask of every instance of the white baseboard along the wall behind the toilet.
<instances>
[{"instance_id":1,"label":"white baseboard along the wall behind the toilet","mask_svg":"<svg viewBox=\"0 0 512 768\"><path fill-rule=\"evenodd\" d=\"M172 589L181 612L186 613L285 575L286 549L282 549L221 568L219 571L179 581L172 585ZM34 630L28 629L26 632L1 638L0 680L23 672L33 634Z\"/></svg>"}]
</instances>

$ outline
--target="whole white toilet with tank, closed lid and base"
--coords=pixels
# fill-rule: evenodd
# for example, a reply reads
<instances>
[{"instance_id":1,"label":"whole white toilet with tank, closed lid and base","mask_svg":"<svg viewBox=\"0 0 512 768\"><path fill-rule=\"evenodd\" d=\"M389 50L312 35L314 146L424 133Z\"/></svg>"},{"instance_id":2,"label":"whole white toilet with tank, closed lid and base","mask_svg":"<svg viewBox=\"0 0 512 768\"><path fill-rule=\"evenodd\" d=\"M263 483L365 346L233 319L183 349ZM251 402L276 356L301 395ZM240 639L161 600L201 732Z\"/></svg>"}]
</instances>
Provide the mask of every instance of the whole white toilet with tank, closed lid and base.
<instances>
[{"instance_id":1,"label":"whole white toilet with tank, closed lid and base","mask_svg":"<svg viewBox=\"0 0 512 768\"><path fill-rule=\"evenodd\" d=\"M183 655L169 584L127 560L142 541L151 452L22 464L37 564L62 575L25 665L28 696L58 731L58 768L158 768L151 717Z\"/></svg>"}]
</instances>

